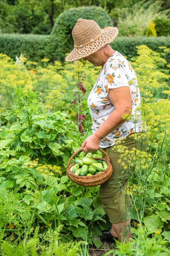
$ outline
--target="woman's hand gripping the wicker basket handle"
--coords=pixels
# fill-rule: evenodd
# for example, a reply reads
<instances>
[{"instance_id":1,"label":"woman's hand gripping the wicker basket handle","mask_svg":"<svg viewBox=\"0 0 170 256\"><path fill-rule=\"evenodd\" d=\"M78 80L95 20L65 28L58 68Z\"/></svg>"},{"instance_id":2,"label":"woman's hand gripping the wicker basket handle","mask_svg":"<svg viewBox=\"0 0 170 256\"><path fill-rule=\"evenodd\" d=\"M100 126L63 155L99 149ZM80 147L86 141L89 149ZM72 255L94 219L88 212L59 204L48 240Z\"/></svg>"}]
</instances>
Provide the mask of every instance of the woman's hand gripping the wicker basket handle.
<instances>
[{"instance_id":1,"label":"woman's hand gripping the wicker basket handle","mask_svg":"<svg viewBox=\"0 0 170 256\"><path fill-rule=\"evenodd\" d=\"M92 134L85 139L85 141L81 145L81 148L84 148L83 152L85 153L97 151L99 149L100 141L101 140L99 140L95 134Z\"/></svg>"}]
</instances>

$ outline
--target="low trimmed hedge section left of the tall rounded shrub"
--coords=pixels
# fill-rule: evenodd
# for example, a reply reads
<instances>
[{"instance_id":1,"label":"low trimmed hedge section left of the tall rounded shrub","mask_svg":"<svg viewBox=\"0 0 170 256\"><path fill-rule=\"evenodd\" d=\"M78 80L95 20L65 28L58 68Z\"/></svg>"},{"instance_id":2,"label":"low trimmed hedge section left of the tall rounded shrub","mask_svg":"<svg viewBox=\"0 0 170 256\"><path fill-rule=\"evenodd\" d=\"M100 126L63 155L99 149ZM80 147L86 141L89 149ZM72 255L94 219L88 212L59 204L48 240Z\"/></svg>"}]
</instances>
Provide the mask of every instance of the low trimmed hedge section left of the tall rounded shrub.
<instances>
[{"instance_id":1,"label":"low trimmed hedge section left of the tall rounded shrub","mask_svg":"<svg viewBox=\"0 0 170 256\"><path fill-rule=\"evenodd\" d=\"M54 61L51 35L0 34L0 52L13 59L22 53L32 61L39 62L42 58Z\"/></svg>"}]
</instances>

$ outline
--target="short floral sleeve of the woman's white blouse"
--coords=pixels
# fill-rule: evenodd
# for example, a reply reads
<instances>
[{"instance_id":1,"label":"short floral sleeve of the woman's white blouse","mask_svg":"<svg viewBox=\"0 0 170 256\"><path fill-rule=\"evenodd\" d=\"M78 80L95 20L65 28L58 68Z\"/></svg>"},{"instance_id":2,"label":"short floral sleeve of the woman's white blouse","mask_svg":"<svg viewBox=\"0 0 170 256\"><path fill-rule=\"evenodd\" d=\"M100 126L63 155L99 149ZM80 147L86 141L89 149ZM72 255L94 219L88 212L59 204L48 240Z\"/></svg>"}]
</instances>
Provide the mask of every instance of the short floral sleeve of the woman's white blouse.
<instances>
[{"instance_id":1,"label":"short floral sleeve of the woman's white blouse","mask_svg":"<svg viewBox=\"0 0 170 256\"><path fill-rule=\"evenodd\" d=\"M108 91L122 86L129 87L127 74L119 61L111 61L106 65L105 88Z\"/></svg>"}]
</instances>

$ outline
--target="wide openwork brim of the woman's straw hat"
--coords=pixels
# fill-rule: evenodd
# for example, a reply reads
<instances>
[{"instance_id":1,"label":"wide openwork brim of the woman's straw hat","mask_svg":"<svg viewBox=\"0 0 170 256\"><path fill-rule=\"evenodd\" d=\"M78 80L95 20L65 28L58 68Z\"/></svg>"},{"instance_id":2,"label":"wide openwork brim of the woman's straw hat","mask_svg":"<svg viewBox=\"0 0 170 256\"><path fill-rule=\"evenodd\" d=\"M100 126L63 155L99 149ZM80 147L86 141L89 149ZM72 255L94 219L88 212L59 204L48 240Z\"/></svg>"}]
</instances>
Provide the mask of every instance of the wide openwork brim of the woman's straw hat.
<instances>
[{"instance_id":1,"label":"wide openwork brim of the woman's straw hat","mask_svg":"<svg viewBox=\"0 0 170 256\"><path fill-rule=\"evenodd\" d=\"M65 61L75 61L79 58L86 57L94 52L96 52L99 48L103 47L105 44L111 43L114 38L118 35L119 30L117 27L107 27L102 29L102 35L99 36L92 43L85 45L82 48L74 48L65 58Z\"/></svg>"}]
</instances>

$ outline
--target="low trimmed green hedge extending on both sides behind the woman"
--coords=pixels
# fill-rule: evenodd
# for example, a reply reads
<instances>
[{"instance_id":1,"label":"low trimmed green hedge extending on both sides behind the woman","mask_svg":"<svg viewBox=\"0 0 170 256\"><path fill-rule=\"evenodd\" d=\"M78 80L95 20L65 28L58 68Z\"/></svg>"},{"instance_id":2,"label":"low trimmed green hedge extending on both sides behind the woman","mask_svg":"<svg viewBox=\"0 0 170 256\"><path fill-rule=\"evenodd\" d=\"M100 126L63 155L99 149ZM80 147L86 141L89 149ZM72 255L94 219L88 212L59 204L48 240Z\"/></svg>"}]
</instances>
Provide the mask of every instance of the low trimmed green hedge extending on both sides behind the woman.
<instances>
[{"instance_id":1,"label":"low trimmed green hedge extending on both sides behind the woman","mask_svg":"<svg viewBox=\"0 0 170 256\"><path fill-rule=\"evenodd\" d=\"M170 48L170 37L119 37L118 35L111 43L111 47L130 59L136 56L136 46L141 44L146 44L154 51L161 52L160 46ZM62 50L65 54L68 52L66 47ZM40 62L42 58L61 61L56 54L51 35L0 34L0 52L13 59L23 53L26 58L29 56L32 61ZM170 63L170 54L166 56L166 59Z\"/></svg>"}]
</instances>

